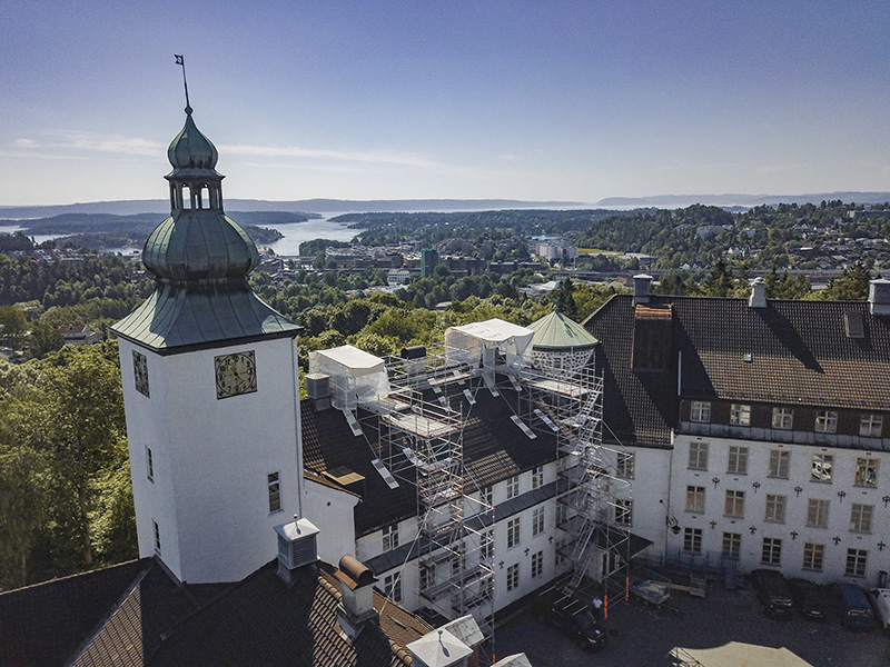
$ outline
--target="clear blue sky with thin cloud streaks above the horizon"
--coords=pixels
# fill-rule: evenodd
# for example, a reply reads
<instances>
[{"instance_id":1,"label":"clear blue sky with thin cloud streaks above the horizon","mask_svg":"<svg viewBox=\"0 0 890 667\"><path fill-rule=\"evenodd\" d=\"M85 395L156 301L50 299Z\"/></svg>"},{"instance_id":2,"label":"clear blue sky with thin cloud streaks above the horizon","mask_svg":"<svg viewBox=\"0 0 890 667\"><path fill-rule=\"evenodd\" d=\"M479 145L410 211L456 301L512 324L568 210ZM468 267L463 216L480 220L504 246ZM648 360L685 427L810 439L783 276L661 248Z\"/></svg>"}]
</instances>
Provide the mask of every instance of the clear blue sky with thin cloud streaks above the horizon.
<instances>
[{"instance_id":1,"label":"clear blue sky with thin cloud streaks above the horizon","mask_svg":"<svg viewBox=\"0 0 890 667\"><path fill-rule=\"evenodd\" d=\"M0 205L890 190L890 2L0 3Z\"/></svg>"}]
</instances>

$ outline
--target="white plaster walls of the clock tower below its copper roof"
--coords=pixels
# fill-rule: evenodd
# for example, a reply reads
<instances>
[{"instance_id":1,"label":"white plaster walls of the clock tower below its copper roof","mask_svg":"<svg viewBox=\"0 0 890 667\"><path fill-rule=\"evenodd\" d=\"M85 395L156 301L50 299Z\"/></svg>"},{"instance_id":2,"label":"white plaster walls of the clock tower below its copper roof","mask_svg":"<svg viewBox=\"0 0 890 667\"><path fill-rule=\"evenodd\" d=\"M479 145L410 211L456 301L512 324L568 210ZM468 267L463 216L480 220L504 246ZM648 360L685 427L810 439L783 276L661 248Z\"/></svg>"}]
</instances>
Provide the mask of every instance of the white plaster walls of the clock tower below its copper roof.
<instances>
[{"instance_id":1,"label":"white plaster walls of the clock tower below its copper roof","mask_svg":"<svg viewBox=\"0 0 890 667\"><path fill-rule=\"evenodd\" d=\"M190 583L239 580L276 555L273 527L299 511L296 340L276 339L148 358L148 399L136 391L132 346L120 341L140 555L154 552ZM257 391L216 397L214 357L254 350ZM145 475L144 447L155 457ZM267 475L280 472L281 507L268 511Z\"/></svg>"}]
</instances>

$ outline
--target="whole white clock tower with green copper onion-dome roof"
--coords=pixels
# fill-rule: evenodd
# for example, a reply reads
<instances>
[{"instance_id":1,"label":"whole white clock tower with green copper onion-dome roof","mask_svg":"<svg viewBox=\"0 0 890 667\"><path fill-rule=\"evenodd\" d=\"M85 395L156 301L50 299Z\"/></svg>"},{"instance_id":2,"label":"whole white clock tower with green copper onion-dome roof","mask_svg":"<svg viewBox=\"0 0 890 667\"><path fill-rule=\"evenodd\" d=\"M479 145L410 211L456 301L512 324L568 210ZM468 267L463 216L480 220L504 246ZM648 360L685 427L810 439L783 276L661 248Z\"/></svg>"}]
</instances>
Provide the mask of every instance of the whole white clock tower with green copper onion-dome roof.
<instances>
[{"instance_id":1,"label":"whole white clock tower with green copper onion-dome roof","mask_svg":"<svg viewBox=\"0 0 890 667\"><path fill-rule=\"evenodd\" d=\"M247 283L259 256L222 210L216 147L167 150L170 217L142 250L155 291L117 322L139 555L182 581L239 580L300 512L297 332Z\"/></svg>"}]
</instances>

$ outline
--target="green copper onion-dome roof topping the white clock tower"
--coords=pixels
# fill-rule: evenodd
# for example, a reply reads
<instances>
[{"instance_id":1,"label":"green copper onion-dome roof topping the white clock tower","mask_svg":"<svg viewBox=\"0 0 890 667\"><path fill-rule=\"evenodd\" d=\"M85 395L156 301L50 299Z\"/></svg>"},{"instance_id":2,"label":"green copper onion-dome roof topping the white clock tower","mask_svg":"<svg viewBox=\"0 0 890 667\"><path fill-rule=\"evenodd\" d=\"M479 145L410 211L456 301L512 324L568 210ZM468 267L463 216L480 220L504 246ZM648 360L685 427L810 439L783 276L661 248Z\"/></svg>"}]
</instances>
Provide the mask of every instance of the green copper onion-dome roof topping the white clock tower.
<instances>
[{"instance_id":1,"label":"green copper onion-dome roof topping the white clock tower","mask_svg":"<svg viewBox=\"0 0 890 667\"><path fill-rule=\"evenodd\" d=\"M216 147L195 126L191 108L167 151L170 217L151 232L142 262L154 293L113 331L159 354L219 342L294 337L299 326L263 302L247 283L259 253L222 211Z\"/></svg>"}]
</instances>

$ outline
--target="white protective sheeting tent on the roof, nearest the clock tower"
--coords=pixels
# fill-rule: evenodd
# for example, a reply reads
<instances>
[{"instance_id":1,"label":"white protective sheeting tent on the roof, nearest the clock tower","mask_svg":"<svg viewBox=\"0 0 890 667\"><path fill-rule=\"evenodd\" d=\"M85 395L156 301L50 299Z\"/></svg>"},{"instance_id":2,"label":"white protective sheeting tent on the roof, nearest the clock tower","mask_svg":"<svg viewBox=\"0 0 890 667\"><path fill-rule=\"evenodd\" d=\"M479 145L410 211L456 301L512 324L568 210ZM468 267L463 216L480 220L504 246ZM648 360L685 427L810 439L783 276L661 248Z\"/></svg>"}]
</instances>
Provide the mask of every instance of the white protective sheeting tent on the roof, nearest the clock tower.
<instances>
[{"instance_id":1,"label":"white protective sheeting tent on the roof, nearest the clock tower","mask_svg":"<svg viewBox=\"0 0 890 667\"><path fill-rule=\"evenodd\" d=\"M338 410L389 395L384 360L350 345L309 352L309 372L330 376L330 404Z\"/></svg>"}]
</instances>

